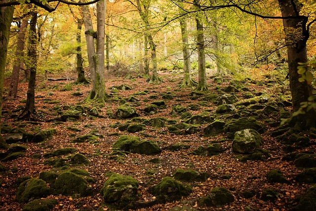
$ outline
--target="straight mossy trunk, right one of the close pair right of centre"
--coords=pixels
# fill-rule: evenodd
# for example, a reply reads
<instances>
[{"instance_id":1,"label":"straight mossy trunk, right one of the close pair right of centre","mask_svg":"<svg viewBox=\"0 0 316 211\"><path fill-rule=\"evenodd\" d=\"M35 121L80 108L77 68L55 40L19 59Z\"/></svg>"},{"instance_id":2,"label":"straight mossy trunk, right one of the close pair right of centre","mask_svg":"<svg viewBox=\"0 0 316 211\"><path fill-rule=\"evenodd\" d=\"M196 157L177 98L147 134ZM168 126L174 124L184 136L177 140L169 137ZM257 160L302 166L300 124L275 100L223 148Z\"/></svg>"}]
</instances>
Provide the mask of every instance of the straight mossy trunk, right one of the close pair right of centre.
<instances>
[{"instance_id":1,"label":"straight mossy trunk, right one of the close pair right of centre","mask_svg":"<svg viewBox=\"0 0 316 211\"><path fill-rule=\"evenodd\" d=\"M197 65L198 65L198 84L197 91L206 91L206 72L205 72L205 46L204 46L204 32L203 25L198 18L197 22Z\"/></svg>"}]
</instances>

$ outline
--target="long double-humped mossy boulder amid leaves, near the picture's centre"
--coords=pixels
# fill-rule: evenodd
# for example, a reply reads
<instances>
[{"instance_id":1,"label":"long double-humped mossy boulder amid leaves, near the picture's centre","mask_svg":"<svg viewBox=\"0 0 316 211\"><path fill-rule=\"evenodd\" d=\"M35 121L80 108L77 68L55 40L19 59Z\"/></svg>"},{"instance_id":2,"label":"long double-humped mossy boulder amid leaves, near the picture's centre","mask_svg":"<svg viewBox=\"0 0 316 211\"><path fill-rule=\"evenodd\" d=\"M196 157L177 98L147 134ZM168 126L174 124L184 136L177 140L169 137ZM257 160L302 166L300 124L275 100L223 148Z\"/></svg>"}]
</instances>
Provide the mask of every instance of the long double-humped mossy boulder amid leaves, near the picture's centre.
<instances>
[{"instance_id":1,"label":"long double-humped mossy boulder amid leaves, near the picture's centre","mask_svg":"<svg viewBox=\"0 0 316 211\"><path fill-rule=\"evenodd\" d=\"M127 151L144 155L152 155L161 152L157 143L151 140L140 140L139 137L122 135L113 144L114 150Z\"/></svg>"}]
</instances>

